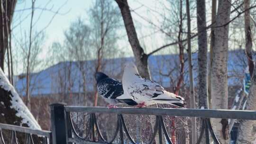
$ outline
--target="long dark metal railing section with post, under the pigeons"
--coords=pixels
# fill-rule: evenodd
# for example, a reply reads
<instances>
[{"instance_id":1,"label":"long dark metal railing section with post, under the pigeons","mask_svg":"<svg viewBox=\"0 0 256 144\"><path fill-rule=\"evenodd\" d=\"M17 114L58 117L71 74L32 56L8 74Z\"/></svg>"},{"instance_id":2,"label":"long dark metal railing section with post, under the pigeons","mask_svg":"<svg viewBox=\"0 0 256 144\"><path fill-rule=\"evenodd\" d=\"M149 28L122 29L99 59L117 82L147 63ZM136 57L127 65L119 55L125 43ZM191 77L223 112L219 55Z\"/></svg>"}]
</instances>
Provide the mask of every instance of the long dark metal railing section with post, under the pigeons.
<instances>
[{"instance_id":1,"label":"long dark metal railing section with post, under the pigeons","mask_svg":"<svg viewBox=\"0 0 256 144\"><path fill-rule=\"evenodd\" d=\"M80 136L75 129L71 112L84 112L89 114L89 132L85 136ZM114 135L107 141L101 134L95 113L117 114L117 124ZM122 114L132 115L155 115L155 126L148 144L152 144L158 133L159 144L162 144L163 136L168 144L172 144L170 136L166 130L163 116L181 116L181 117L202 117L201 132L196 144L201 142L205 135L205 144L210 144L210 137L215 144L220 144L218 138L212 129L210 118L234 118L256 120L256 111L248 110L209 110L209 109L177 109L177 108L103 108L103 107L75 107L64 106L63 104L51 105L53 144L112 144L119 135L119 141L124 144L124 136L128 137L129 143L136 144L129 134L126 122ZM163 131L163 133L162 133ZM60 135L60 132L62 133ZM55 136L54 136L55 135ZM56 136L58 135L58 136ZM96 135L98 138L96 138Z\"/></svg>"}]
</instances>

